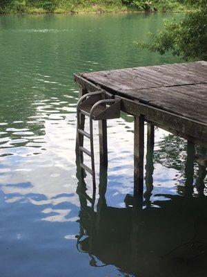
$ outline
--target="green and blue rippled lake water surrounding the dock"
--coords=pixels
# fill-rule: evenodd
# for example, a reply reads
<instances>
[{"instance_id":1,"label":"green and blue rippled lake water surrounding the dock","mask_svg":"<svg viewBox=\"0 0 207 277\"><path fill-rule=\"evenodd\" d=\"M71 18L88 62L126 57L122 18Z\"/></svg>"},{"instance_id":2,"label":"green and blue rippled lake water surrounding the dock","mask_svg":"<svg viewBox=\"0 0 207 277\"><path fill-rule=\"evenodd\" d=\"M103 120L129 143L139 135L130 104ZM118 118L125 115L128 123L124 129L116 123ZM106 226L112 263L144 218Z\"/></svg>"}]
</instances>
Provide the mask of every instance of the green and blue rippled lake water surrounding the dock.
<instances>
[{"instance_id":1,"label":"green and blue rippled lake water surrounding the dock","mask_svg":"<svg viewBox=\"0 0 207 277\"><path fill-rule=\"evenodd\" d=\"M205 276L205 170L185 170L183 139L155 130L154 188L150 178L135 212L124 203L133 191L132 117L109 120L95 211L76 193L72 74L182 62L132 43L172 16L183 15L0 17L1 277ZM98 151L96 126L97 184Z\"/></svg>"}]
</instances>

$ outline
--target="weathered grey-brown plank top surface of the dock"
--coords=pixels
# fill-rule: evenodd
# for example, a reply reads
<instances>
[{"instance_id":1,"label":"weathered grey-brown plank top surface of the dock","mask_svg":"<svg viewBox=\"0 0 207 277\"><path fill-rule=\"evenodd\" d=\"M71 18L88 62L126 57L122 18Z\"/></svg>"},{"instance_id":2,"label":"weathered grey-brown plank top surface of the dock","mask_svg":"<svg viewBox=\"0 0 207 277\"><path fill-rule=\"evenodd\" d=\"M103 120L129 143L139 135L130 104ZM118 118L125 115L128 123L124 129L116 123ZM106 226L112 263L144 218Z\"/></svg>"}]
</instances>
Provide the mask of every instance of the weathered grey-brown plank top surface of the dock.
<instances>
[{"instance_id":1,"label":"weathered grey-brown plank top surface of the dock","mask_svg":"<svg viewBox=\"0 0 207 277\"><path fill-rule=\"evenodd\" d=\"M207 125L207 62L141 66L81 76L115 95Z\"/></svg>"}]
</instances>

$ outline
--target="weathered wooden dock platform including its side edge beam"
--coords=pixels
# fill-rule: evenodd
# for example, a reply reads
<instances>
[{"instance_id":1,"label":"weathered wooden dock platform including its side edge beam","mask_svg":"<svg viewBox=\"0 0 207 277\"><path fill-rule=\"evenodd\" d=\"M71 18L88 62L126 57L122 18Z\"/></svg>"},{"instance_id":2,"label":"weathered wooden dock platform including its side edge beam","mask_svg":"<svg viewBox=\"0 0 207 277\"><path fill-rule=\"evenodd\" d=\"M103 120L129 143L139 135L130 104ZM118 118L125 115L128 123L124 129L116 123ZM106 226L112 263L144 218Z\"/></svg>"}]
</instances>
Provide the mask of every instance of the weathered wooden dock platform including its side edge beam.
<instances>
[{"instance_id":1,"label":"weathered wooden dock platform including its side edge beam","mask_svg":"<svg viewBox=\"0 0 207 277\"><path fill-rule=\"evenodd\" d=\"M207 143L207 62L83 73L75 80L83 88L95 86L132 100L122 100L121 109L134 116L142 113L147 120Z\"/></svg>"}]
</instances>

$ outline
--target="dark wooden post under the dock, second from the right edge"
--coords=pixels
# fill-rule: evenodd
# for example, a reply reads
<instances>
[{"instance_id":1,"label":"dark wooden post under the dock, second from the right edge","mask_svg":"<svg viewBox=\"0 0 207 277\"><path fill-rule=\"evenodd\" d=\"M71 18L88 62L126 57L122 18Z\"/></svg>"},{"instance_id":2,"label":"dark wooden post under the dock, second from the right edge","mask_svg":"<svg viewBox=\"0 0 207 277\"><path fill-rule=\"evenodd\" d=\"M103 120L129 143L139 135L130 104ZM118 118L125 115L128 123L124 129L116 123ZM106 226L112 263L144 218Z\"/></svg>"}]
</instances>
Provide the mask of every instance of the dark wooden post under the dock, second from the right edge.
<instances>
[{"instance_id":1,"label":"dark wooden post under the dock, second from the right edge","mask_svg":"<svg viewBox=\"0 0 207 277\"><path fill-rule=\"evenodd\" d=\"M185 168L185 196L193 196L193 175L194 175L194 159L195 159L195 144L188 141L187 144L187 160Z\"/></svg>"}]
</instances>

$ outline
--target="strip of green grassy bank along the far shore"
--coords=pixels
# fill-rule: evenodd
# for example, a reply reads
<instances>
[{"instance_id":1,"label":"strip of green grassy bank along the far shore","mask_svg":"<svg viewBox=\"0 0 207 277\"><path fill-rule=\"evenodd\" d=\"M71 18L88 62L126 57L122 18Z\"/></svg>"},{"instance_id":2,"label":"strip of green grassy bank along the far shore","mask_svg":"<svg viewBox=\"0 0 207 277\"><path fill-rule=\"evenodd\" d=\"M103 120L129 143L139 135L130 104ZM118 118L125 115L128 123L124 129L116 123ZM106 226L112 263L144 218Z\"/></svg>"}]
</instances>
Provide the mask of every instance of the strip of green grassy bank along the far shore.
<instances>
[{"instance_id":1,"label":"strip of green grassy bank along the far shore","mask_svg":"<svg viewBox=\"0 0 207 277\"><path fill-rule=\"evenodd\" d=\"M186 0L0 0L0 12L106 12L183 10ZM190 0L191 1L191 0ZM192 0L193 1L193 0ZM202 0L200 0L202 1Z\"/></svg>"}]
</instances>

